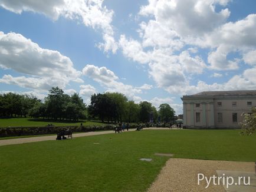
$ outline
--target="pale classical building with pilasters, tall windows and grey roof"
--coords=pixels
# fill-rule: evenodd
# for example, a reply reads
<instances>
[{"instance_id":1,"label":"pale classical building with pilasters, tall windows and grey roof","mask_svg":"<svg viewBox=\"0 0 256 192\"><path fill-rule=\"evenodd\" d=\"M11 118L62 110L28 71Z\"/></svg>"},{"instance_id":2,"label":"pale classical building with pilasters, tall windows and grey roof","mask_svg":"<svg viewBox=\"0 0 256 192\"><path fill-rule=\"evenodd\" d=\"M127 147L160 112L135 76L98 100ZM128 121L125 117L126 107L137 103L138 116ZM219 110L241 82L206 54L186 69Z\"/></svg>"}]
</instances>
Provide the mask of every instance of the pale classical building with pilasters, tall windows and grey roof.
<instances>
[{"instance_id":1,"label":"pale classical building with pilasters, tall windows and grey roof","mask_svg":"<svg viewBox=\"0 0 256 192\"><path fill-rule=\"evenodd\" d=\"M181 99L184 128L239 128L241 114L256 107L256 90L204 91Z\"/></svg>"}]
</instances>

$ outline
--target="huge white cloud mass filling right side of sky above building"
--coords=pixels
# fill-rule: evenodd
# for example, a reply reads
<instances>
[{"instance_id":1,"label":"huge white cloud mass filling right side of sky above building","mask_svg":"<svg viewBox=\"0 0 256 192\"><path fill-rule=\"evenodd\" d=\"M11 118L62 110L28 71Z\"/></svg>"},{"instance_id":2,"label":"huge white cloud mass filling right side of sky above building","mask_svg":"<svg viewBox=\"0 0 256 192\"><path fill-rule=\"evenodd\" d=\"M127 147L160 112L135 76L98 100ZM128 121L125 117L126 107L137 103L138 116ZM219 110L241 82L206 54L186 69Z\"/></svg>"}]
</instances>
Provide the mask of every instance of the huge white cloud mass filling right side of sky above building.
<instances>
[{"instance_id":1,"label":"huge white cloud mass filling right side of sky above building","mask_svg":"<svg viewBox=\"0 0 256 192\"><path fill-rule=\"evenodd\" d=\"M190 83L191 74L202 74L205 69L239 69L242 60L255 64L256 14L226 22L230 14L225 8L228 3L229 0L149 0L139 12L140 16L150 18L139 25L140 39L120 37L123 55L148 64L149 75L157 86L172 94L238 89L234 79L245 86L243 89L253 88L254 81L245 74L254 68L224 84ZM221 11L216 11L216 5L222 6ZM208 52L206 61L198 55L199 48ZM212 77L220 76L213 72Z\"/></svg>"}]
</instances>

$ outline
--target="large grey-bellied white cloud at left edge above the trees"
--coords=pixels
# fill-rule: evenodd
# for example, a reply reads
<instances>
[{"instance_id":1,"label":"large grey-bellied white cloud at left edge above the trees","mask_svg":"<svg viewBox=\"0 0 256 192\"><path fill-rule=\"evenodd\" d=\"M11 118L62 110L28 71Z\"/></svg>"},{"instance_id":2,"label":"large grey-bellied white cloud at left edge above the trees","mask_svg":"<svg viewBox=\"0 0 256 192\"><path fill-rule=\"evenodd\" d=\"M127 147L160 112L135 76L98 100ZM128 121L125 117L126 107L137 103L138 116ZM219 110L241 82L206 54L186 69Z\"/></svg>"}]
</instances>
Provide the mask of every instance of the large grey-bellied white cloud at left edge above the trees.
<instances>
[{"instance_id":1,"label":"large grey-bellied white cloud at left edge above the trees","mask_svg":"<svg viewBox=\"0 0 256 192\"><path fill-rule=\"evenodd\" d=\"M4 75L1 82L21 87L48 90L53 86L64 88L70 81L81 82L80 71L70 58L58 51L39 47L21 34L0 32L0 64L32 77Z\"/></svg>"}]
</instances>

